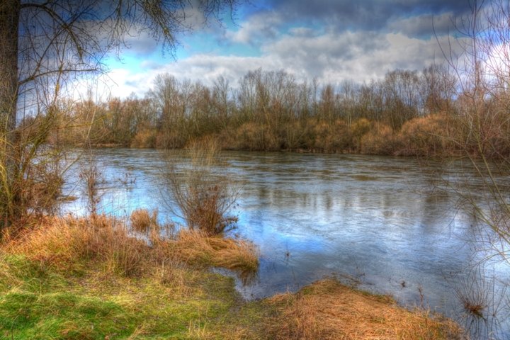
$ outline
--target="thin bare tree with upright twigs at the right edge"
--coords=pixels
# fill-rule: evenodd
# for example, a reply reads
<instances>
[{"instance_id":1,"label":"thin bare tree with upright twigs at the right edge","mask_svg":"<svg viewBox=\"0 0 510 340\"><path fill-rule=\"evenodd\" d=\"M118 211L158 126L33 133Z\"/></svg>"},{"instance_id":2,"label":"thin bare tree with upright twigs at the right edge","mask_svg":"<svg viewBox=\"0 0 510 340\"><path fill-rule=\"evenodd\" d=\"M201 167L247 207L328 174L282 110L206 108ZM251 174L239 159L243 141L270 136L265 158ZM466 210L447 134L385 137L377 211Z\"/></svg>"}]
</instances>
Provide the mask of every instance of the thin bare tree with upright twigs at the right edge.
<instances>
[{"instance_id":1,"label":"thin bare tree with upright twigs at the right edge","mask_svg":"<svg viewBox=\"0 0 510 340\"><path fill-rule=\"evenodd\" d=\"M460 38L456 42L463 54L452 56L445 49L460 91L455 142L470 159L484 188L484 193L476 196L464 188L458 191L476 212L481 225L488 227L485 234L488 244L507 262L510 262L510 204L508 188L498 174L510 174L509 10L508 1L473 1L470 15L457 22Z\"/></svg>"}]
</instances>

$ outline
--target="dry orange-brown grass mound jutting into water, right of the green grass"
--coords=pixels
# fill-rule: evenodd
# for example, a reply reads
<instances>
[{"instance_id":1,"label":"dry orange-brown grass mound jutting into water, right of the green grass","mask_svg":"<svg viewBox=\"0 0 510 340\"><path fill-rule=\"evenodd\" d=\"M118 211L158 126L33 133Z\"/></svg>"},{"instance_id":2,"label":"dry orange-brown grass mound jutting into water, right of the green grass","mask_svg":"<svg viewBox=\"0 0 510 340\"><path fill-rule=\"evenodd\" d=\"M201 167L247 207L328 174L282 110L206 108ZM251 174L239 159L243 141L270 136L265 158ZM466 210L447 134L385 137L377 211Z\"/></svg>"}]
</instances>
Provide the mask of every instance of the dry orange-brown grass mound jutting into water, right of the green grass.
<instances>
[{"instance_id":1,"label":"dry orange-brown grass mound jutting into water, right of the green grass","mask_svg":"<svg viewBox=\"0 0 510 340\"><path fill-rule=\"evenodd\" d=\"M295 295L276 295L269 329L274 339L463 339L458 326L422 311L398 307L390 297L370 295L322 280Z\"/></svg>"}]
</instances>

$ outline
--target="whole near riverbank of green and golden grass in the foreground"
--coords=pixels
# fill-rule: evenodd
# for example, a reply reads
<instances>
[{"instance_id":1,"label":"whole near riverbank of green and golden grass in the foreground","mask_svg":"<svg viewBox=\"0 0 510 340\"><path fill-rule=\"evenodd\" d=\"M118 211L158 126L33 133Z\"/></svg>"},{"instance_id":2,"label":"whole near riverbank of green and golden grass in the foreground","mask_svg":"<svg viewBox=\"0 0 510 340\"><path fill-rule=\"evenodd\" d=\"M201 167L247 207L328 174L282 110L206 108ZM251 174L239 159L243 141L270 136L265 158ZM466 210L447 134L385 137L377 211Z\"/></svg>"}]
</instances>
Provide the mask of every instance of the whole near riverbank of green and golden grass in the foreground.
<instances>
[{"instance_id":1,"label":"whole near riverbank of green and golden grass in the foreground","mask_svg":"<svg viewBox=\"0 0 510 340\"><path fill-rule=\"evenodd\" d=\"M161 227L161 226L160 226ZM169 226L167 226L169 227ZM453 322L335 280L246 302L234 280L256 249L242 239L183 232L152 246L123 222L51 218L0 255L3 339L455 339ZM158 235L161 229L158 229Z\"/></svg>"}]
</instances>

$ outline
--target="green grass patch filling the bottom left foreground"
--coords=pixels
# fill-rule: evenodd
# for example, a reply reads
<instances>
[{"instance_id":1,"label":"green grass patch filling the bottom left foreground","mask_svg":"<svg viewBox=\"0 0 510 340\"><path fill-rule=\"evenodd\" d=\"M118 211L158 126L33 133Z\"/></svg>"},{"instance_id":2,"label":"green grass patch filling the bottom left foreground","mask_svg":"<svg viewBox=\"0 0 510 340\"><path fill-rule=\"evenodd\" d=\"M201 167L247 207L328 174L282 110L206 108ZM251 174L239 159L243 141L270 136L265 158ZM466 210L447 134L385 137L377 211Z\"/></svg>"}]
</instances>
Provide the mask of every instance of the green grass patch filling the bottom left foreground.
<instances>
[{"instance_id":1,"label":"green grass patch filling the bottom left foreground","mask_svg":"<svg viewBox=\"0 0 510 340\"><path fill-rule=\"evenodd\" d=\"M261 339L252 323L265 310L232 278L180 268L179 283L161 282L88 264L77 276L0 256L0 339Z\"/></svg>"}]
</instances>

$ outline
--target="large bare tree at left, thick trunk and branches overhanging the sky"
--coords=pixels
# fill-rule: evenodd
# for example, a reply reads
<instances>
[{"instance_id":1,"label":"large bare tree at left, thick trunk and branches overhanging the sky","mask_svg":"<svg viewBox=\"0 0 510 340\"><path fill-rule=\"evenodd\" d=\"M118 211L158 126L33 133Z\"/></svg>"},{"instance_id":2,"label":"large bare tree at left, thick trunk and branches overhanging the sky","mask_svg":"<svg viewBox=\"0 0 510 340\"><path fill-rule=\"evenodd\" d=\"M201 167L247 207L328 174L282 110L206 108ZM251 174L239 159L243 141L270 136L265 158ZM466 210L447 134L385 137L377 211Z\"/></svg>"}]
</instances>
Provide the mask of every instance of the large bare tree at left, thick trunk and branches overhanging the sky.
<instances>
[{"instance_id":1,"label":"large bare tree at left, thick trunk and branches overhanging the sky","mask_svg":"<svg viewBox=\"0 0 510 340\"><path fill-rule=\"evenodd\" d=\"M237 0L1 0L0 1L0 229L22 212L22 150L17 122L21 98L41 108L41 97L55 98L69 77L105 69L103 57L128 47L126 37L149 33L174 55L179 33L231 11ZM50 85L48 87L48 85ZM53 93L50 93L51 91Z\"/></svg>"}]
</instances>

